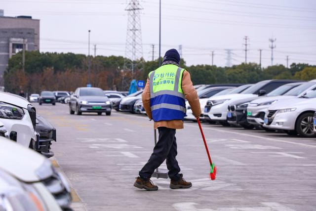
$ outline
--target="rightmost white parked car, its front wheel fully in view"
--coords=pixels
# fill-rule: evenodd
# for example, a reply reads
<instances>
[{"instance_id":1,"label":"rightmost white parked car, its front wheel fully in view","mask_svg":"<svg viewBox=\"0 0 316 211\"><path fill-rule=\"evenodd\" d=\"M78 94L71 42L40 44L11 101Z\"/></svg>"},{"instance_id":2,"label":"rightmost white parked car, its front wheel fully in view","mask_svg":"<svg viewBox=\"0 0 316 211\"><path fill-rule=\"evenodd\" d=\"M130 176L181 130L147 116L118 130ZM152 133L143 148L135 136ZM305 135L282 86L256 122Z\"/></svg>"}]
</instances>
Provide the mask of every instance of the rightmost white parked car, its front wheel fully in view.
<instances>
[{"instance_id":1,"label":"rightmost white parked car, its front wheel fully in view","mask_svg":"<svg viewBox=\"0 0 316 211\"><path fill-rule=\"evenodd\" d=\"M284 130L288 134L315 137L313 116L316 111L316 91L302 97L279 100L269 107L264 127Z\"/></svg>"}]
</instances>

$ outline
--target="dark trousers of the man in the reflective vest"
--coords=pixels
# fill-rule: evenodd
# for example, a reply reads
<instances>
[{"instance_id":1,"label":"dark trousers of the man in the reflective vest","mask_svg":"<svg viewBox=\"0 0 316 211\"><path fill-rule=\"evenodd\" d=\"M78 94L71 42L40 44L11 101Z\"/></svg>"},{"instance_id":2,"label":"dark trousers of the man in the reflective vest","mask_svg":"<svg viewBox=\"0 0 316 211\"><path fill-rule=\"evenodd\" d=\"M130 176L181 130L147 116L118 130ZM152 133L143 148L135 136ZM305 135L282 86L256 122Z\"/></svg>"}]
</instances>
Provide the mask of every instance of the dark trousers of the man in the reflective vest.
<instances>
[{"instance_id":1,"label":"dark trousers of the man in the reflective vest","mask_svg":"<svg viewBox=\"0 0 316 211\"><path fill-rule=\"evenodd\" d=\"M139 171L139 176L143 179L150 178L164 160L168 168L169 178L172 180L180 179L180 167L177 156L176 130L167 127L158 127L159 139L154 148L153 154L150 156L147 164Z\"/></svg>"}]
</instances>

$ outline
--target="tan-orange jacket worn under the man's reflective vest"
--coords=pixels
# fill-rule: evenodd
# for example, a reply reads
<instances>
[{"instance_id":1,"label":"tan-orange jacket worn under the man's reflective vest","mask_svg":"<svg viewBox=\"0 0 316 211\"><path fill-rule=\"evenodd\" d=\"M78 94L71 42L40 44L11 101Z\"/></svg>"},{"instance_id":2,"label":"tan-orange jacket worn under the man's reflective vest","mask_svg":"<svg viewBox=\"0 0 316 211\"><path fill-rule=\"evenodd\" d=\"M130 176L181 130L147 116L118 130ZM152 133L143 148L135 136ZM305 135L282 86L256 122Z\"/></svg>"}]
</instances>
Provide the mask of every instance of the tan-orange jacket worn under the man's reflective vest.
<instances>
[{"instance_id":1,"label":"tan-orange jacket worn under the man's reflective vest","mask_svg":"<svg viewBox=\"0 0 316 211\"><path fill-rule=\"evenodd\" d=\"M193 115L195 117L199 117L201 114L201 108L199 104L199 100L197 97L197 90L193 87L193 83L191 81L190 73L188 71L184 71L182 75L182 83L181 83L182 91L185 94L186 99L189 101L191 106ZM142 94L143 106L148 115L149 119L152 119L152 111L150 109L150 89L149 89L149 79L147 79L147 83ZM154 122L154 127L168 127L172 129L182 129L183 121L182 120L171 120L171 121L160 121Z\"/></svg>"}]
</instances>

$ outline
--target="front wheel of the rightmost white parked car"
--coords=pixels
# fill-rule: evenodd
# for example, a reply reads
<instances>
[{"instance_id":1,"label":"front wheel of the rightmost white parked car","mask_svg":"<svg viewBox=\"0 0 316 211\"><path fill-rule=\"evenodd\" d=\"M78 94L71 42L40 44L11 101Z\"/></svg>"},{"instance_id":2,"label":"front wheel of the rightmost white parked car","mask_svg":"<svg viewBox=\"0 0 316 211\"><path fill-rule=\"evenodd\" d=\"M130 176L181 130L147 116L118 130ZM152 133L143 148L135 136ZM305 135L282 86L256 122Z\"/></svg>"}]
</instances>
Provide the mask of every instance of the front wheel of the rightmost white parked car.
<instances>
[{"instance_id":1,"label":"front wheel of the rightmost white parked car","mask_svg":"<svg viewBox=\"0 0 316 211\"><path fill-rule=\"evenodd\" d=\"M304 113L296 121L295 130L302 137L315 137L314 125L313 125L314 113Z\"/></svg>"}]
</instances>

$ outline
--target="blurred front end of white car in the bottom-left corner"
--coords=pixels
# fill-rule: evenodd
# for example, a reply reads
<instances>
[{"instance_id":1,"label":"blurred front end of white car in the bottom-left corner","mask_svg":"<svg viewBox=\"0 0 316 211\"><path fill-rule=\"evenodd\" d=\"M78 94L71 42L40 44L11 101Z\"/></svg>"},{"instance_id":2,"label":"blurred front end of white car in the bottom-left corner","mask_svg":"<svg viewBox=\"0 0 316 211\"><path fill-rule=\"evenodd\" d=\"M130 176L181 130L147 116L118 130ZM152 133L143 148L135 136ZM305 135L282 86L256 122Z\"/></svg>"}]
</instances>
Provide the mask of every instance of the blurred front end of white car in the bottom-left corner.
<instances>
[{"instance_id":1,"label":"blurred front end of white car in the bottom-left corner","mask_svg":"<svg viewBox=\"0 0 316 211\"><path fill-rule=\"evenodd\" d=\"M70 204L70 186L49 160L0 137L0 211L62 211Z\"/></svg>"}]
</instances>

